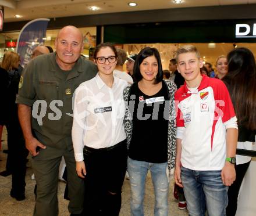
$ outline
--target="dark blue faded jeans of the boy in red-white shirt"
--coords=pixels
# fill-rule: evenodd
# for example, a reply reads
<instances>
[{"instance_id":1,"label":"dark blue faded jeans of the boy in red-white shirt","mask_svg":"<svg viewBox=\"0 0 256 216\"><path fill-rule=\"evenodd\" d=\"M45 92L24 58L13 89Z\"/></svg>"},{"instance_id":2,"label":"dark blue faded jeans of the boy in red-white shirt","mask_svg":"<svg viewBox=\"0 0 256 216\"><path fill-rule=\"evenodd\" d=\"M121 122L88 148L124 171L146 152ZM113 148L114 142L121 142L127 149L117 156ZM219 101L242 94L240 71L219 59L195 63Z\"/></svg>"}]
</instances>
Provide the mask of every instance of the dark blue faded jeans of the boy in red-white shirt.
<instances>
[{"instance_id":1,"label":"dark blue faded jeans of the boy in red-white shirt","mask_svg":"<svg viewBox=\"0 0 256 216\"><path fill-rule=\"evenodd\" d=\"M194 171L182 167L181 173L187 210L191 216L225 216L227 186L223 185L221 170Z\"/></svg>"}]
</instances>

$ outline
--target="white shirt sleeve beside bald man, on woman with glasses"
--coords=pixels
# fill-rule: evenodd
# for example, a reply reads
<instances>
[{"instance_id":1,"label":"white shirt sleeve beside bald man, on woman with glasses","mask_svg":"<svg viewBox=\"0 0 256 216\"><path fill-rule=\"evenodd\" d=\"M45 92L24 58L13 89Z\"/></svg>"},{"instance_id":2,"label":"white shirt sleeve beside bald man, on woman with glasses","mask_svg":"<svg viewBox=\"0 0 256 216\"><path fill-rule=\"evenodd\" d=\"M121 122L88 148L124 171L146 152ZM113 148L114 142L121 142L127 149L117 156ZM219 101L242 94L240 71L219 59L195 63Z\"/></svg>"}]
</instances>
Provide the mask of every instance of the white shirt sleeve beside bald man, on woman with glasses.
<instances>
[{"instance_id":1,"label":"white shirt sleeve beside bald man, on woman with glasses","mask_svg":"<svg viewBox=\"0 0 256 216\"><path fill-rule=\"evenodd\" d=\"M86 128L86 88L80 85L74 92L74 107L73 107L73 127L72 127L72 141L74 147L74 158L76 161L83 161L84 149L84 129Z\"/></svg>"}]
</instances>

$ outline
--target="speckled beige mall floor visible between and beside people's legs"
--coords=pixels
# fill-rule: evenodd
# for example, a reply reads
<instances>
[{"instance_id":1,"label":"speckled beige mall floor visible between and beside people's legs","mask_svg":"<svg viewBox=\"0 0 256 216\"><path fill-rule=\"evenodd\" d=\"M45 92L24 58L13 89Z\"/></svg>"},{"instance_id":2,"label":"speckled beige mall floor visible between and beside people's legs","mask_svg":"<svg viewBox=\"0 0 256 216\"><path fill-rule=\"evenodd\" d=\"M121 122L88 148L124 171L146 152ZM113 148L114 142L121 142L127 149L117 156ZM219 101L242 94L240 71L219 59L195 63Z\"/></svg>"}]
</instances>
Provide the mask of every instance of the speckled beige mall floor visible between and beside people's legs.
<instances>
[{"instance_id":1,"label":"speckled beige mall floor visible between and beside people's legs","mask_svg":"<svg viewBox=\"0 0 256 216\"><path fill-rule=\"evenodd\" d=\"M2 143L2 150L6 149L6 131L3 132L3 138L5 141ZM0 172L5 170L6 154L0 151ZM33 215L34 208L34 185L35 181L31 180L33 173L30 168L30 162L27 163L27 176L26 176L26 199L23 201L16 201L10 197L10 182L11 177L0 176L0 215L8 216L29 216ZM63 193L65 189L65 183L59 182L59 215L69 215L67 211L68 201L63 199ZM170 194L169 194L169 215L172 216L187 216L186 210L179 210L177 208L177 201L172 196L173 182L170 183ZM146 189L145 189L145 201L144 201L145 216L154 215L154 193L150 175L148 175ZM123 185L122 193L122 208L120 216L130 215L130 184L129 181L125 180Z\"/></svg>"}]
</instances>

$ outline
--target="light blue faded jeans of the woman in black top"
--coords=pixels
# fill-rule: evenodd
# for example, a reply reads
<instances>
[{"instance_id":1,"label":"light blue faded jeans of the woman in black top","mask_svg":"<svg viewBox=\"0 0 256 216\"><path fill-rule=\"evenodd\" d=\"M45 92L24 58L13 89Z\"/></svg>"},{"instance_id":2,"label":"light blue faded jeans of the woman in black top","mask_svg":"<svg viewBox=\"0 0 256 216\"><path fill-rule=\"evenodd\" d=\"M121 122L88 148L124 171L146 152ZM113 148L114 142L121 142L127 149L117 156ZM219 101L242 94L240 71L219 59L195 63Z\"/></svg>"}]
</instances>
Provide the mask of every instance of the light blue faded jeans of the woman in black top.
<instances>
[{"instance_id":1,"label":"light blue faded jeans of the woman in black top","mask_svg":"<svg viewBox=\"0 0 256 216\"><path fill-rule=\"evenodd\" d=\"M155 216L168 216L169 178L166 163L148 163L128 157L128 172L131 185L131 215L143 216L145 180L151 172L155 192Z\"/></svg>"}]
</instances>

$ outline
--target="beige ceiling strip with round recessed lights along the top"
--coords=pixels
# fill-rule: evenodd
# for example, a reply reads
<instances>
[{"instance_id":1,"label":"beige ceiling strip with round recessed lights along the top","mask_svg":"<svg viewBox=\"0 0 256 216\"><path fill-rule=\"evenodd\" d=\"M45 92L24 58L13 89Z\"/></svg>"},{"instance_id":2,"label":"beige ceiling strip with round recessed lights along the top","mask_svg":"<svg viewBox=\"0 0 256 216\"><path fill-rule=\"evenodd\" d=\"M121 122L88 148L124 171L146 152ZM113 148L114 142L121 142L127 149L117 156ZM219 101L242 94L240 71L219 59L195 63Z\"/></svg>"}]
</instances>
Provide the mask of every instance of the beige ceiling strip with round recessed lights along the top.
<instances>
[{"instance_id":1,"label":"beige ceiling strip with round recessed lights along the top","mask_svg":"<svg viewBox=\"0 0 256 216\"><path fill-rule=\"evenodd\" d=\"M136 2L131 7L129 2ZM176 4L172 0L0 0L5 8L5 22L33 20L102 13L132 12L138 10L190 8L198 6L220 6L253 4L256 0L183 0ZM90 10L97 6L98 10ZM20 18L15 18L20 15Z\"/></svg>"}]
</instances>

